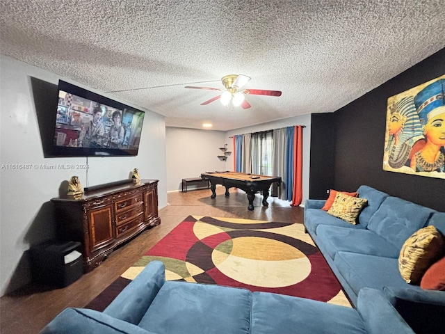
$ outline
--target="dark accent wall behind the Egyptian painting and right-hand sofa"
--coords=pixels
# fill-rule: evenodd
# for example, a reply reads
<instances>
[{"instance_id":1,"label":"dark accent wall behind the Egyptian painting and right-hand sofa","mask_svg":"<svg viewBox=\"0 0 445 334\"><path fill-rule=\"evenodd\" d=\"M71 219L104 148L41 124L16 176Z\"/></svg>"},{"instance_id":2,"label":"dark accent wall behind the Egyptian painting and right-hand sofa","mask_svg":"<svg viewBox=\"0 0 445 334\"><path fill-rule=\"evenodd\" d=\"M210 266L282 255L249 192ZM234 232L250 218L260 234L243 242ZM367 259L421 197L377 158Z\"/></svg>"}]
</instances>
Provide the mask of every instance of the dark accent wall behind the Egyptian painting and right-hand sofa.
<instances>
[{"instance_id":1,"label":"dark accent wall behind the Egyptian painting and right-hand sofa","mask_svg":"<svg viewBox=\"0 0 445 334\"><path fill-rule=\"evenodd\" d=\"M385 147L385 127L387 99L405 90L418 86L445 74L445 49L426 58L387 81L371 92L359 97L347 106L334 112L334 122L330 118L313 117L311 131L327 124L334 127L334 164L332 182L321 181L314 184L320 173L319 161L323 161L321 143L311 142L310 186L321 188L333 184L334 189L353 191L361 184L385 191L391 196L416 202L420 205L445 212L445 180L433 177L421 177L403 173L387 172L382 168ZM313 137L313 136L312 136ZM330 145L327 145L330 146ZM316 152L312 152L316 150ZM314 156L314 164L312 157ZM329 159L329 155L325 155ZM329 162L325 161L329 166ZM314 192L315 194L315 192ZM311 192L310 198L317 198Z\"/></svg>"}]
</instances>

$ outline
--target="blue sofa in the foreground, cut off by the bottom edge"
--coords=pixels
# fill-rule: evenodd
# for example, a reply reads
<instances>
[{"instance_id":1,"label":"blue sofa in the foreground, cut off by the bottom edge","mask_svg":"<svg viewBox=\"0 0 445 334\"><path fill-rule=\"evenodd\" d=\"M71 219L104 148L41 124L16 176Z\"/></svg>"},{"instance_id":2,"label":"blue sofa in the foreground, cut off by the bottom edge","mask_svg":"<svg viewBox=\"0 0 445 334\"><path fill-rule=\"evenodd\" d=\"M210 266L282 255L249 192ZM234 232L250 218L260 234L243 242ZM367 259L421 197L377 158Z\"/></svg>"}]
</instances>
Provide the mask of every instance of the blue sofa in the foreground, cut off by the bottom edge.
<instances>
[{"instance_id":1,"label":"blue sofa in the foreground, cut off by the bottom edge","mask_svg":"<svg viewBox=\"0 0 445 334\"><path fill-rule=\"evenodd\" d=\"M70 334L325 333L413 334L376 289L362 289L357 309L246 289L165 281L151 262L104 312L67 308L41 332Z\"/></svg>"}]
</instances>

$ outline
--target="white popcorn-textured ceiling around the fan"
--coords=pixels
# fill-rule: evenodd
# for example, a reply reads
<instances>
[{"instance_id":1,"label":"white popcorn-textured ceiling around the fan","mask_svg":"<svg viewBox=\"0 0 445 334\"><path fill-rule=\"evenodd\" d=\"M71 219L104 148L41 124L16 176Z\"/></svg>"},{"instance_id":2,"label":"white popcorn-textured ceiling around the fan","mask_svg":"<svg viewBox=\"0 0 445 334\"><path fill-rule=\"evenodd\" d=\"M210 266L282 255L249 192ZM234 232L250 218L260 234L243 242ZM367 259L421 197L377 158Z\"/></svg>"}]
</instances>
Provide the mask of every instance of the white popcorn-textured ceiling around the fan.
<instances>
[{"instance_id":1,"label":"white popcorn-textured ceiling around the fan","mask_svg":"<svg viewBox=\"0 0 445 334\"><path fill-rule=\"evenodd\" d=\"M1 0L1 53L168 126L228 130L341 108L444 48L444 17L442 0ZM231 110L184 88L226 74L282 96Z\"/></svg>"}]
</instances>

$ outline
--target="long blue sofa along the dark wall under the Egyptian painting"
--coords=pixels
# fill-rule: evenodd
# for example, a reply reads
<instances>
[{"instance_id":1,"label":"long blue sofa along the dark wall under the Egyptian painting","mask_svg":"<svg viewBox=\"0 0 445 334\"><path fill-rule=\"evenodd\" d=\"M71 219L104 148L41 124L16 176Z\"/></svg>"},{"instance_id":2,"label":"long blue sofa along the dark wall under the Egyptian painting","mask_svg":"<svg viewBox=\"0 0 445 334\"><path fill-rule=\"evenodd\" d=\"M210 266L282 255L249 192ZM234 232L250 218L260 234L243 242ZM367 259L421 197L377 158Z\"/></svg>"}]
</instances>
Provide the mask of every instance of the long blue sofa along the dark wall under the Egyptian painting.
<instances>
[{"instance_id":1,"label":"long blue sofa along the dark wall under the Egyptian painting","mask_svg":"<svg viewBox=\"0 0 445 334\"><path fill-rule=\"evenodd\" d=\"M348 298L357 305L362 289L378 289L416 333L445 333L445 292L410 285L398 269L401 248L414 232L434 225L445 235L445 213L370 186L360 186L357 193L368 205L356 225L327 214L321 209L325 200L305 202L305 228Z\"/></svg>"}]
</instances>

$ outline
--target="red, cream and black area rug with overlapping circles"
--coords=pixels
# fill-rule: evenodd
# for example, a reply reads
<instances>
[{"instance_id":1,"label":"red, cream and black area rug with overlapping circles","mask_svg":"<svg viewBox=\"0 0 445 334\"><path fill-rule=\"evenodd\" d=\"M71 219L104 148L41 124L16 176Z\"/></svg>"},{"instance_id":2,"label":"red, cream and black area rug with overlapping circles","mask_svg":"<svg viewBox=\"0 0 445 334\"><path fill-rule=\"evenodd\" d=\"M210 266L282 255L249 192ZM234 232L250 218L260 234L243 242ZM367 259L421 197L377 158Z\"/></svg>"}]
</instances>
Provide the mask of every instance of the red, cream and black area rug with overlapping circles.
<instances>
[{"instance_id":1,"label":"red, cream and black area rug with overlapping circles","mask_svg":"<svg viewBox=\"0 0 445 334\"><path fill-rule=\"evenodd\" d=\"M300 223L188 216L86 308L104 310L147 264L167 280L243 287L350 306Z\"/></svg>"}]
</instances>

